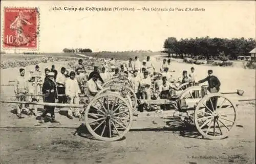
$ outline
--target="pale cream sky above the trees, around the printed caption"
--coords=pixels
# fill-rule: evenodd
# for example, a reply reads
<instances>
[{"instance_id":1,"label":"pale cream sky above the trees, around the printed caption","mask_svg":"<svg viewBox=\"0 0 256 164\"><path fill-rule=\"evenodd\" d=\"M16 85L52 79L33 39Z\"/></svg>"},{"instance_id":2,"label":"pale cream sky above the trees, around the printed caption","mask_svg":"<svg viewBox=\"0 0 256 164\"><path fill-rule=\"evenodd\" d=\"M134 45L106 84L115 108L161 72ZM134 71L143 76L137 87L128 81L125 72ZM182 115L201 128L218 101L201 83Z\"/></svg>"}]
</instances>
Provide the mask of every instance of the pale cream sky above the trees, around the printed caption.
<instances>
[{"instance_id":1,"label":"pale cream sky above the trees, around the printed caption","mask_svg":"<svg viewBox=\"0 0 256 164\"><path fill-rule=\"evenodd\" d=\"M46 53L61 52L64 48L90 48L93 52L161 51L167 37L256 38L254 1L1 1L2 22L4 7L39 8L37 51ZM52 10L53 7L62 10ZM136 10L65 11L64 7ZM143 11L143 7L205 11ZM2 31L3 26L1 23ZM9 50L1 46L1 51Z\"/></svg>"}]
</instances>

